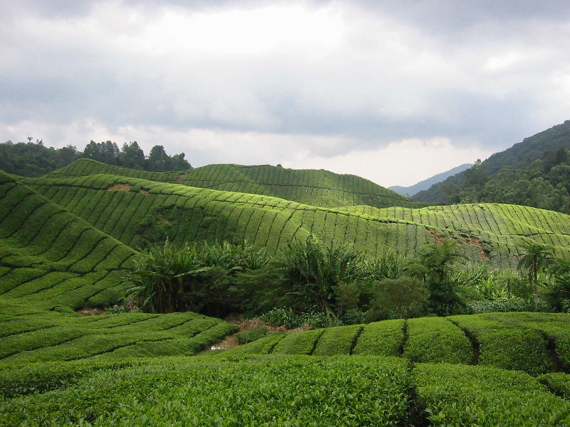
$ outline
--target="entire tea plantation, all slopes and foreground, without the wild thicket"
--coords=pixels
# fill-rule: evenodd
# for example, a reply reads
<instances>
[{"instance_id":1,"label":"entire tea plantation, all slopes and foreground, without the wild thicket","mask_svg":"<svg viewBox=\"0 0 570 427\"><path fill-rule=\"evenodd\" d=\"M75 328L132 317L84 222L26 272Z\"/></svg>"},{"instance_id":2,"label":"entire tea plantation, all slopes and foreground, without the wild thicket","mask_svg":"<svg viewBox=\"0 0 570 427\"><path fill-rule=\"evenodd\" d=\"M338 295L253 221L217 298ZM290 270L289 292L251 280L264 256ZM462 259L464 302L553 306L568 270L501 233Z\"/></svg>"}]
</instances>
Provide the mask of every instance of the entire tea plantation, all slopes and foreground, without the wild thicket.
<instances>
[{"instance_id":1,"label":"entire tea plantation, all slopes and foreground, without the wild thicket","mask_svg":"<svg viewBox=\"0 0 570 427\"><path fill-rule=\"evenodd\" d=\"M314 235L368 258L452 236L497 267L527 241L569 255L566 215L412 209L383 191L267 166L0 172L0 426L570 426L568 314L385 320L201 353L237 327L192 312L74 311L117 301L139 246L165 236L276 253Z\"/></svg>"}]
</instances>

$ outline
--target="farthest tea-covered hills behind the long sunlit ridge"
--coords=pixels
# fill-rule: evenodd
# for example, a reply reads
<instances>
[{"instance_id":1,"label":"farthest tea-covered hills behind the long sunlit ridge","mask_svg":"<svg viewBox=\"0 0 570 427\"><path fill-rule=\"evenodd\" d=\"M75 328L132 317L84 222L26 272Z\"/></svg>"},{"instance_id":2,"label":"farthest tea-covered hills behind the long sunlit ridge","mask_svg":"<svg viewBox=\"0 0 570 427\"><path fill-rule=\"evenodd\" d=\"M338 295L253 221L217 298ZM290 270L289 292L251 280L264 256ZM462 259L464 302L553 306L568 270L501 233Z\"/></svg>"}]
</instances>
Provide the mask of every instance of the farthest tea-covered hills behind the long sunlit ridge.
<instances>
[{"instance_id":1,"label":"farthest tea-covered hills behind the long sunlit ridge","mask_svg":"<svg viewBox=\"0 0 570 427\"><path fill-rule=\"evenodd\" d=\"M324 207L366 204L385 206L425 206L368 179L355 175L338 175L313 169L284 169L266 165L211 164L186 172L145 172L109 166L90 159L80 159L47 176L86 176L112 174L172 182L206 189L237 191L274 196L303 204Z\"/></svg>"}]
</instances>

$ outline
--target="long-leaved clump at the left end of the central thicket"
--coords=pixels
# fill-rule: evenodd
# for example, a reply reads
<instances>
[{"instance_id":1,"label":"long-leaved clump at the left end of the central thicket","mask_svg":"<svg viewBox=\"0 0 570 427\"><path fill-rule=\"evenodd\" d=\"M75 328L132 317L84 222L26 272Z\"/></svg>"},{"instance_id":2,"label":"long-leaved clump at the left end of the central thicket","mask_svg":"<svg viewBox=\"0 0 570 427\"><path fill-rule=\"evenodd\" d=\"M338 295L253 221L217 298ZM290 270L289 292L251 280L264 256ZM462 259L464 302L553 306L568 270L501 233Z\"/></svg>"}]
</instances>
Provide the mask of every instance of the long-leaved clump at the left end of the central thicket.
<instances>
[{"instance_id":1,"label":"long-leaved clump at the left end of the central thicket","mask_svg":"<svg viewBox=\"0 0 570 427\"><path fill-rule=\"evenodd\" d=\"M143 310L193 310L220 315L239 307L232 302L239 289L233 279L242 272L263 268L263 249L228 242L178 248L169 241L151 246L135 258L128 289Z\"/></svg>"}]
</instances>

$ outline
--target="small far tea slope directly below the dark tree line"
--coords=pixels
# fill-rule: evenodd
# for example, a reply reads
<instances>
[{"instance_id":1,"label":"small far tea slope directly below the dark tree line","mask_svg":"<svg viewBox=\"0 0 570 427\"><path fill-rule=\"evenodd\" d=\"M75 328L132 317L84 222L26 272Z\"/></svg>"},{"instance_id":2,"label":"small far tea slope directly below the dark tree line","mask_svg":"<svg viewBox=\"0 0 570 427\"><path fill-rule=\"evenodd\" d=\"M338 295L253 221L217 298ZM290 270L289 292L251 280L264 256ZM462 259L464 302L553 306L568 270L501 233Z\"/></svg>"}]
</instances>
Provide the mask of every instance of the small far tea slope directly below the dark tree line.
<instances>
[{"instance_id":1,"label":"small far tea slope directly below the dark tree line","mask_svg":"<svg viewBox=\"0 0 570 427\"><path fill-rule=\"evenodd\" d=\"M110 174L119 176L130 176L132 178L148 179L150 181L160 182L176 182L182 179L186 174L185 171L180 172L151 172L143 171L140 169L129 169L127 167L113 166L97 162L93 159L78 159L71 162L67 166L56 169L46 176L51 177L72 177L72 176L86 176L96 174Z\"/></svg>"}]
</instances>

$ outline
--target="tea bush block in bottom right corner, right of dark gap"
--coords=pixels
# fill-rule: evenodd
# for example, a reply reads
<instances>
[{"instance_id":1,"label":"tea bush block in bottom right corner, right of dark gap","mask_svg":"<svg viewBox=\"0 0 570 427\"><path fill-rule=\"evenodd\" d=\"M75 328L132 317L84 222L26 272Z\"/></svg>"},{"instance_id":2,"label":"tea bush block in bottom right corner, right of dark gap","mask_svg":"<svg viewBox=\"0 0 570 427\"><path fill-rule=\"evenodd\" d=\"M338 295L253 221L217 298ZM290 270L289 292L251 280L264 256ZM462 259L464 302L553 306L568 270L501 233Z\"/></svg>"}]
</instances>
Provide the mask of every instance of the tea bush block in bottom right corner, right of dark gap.
<instances>
[{"instance_id":1,"label":"tea bush block in bottom right corner, right of dark gap","mask_svg":"<svg viewBox=\"0 0 570 427\"><path fill-rule=\"evenodd\" d=\"M414 384L430 426L566 426L570 404L532 376L496 368L417 364Z\"/></svg>"}]
</instances>

